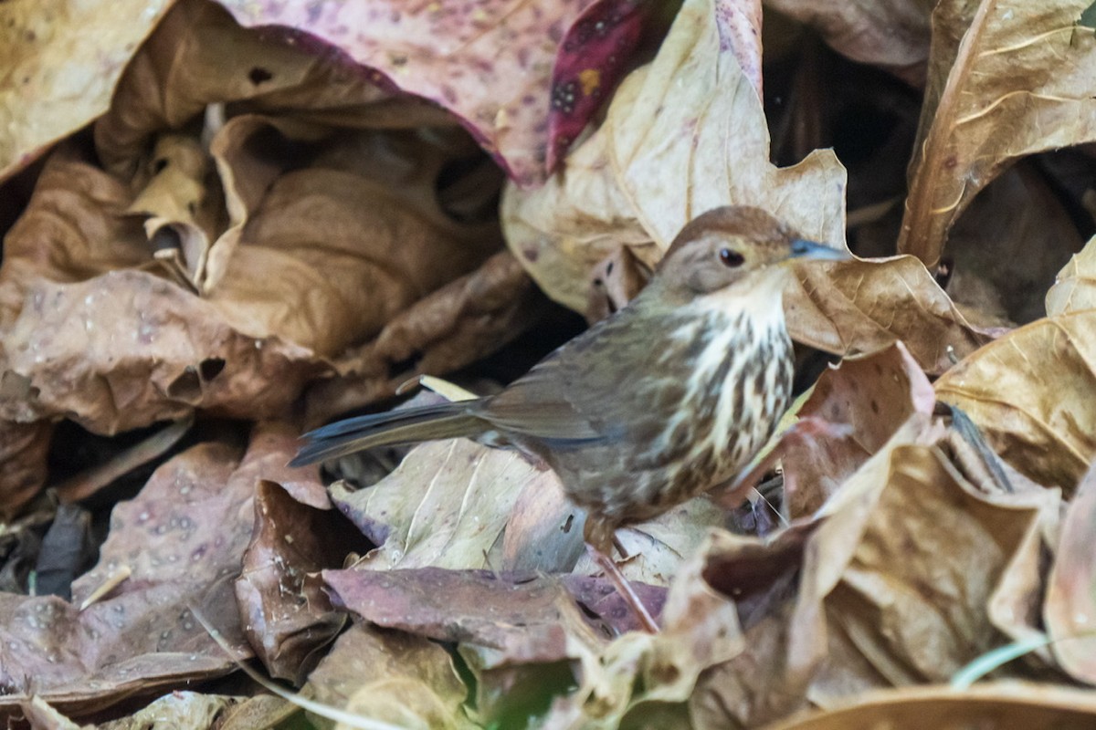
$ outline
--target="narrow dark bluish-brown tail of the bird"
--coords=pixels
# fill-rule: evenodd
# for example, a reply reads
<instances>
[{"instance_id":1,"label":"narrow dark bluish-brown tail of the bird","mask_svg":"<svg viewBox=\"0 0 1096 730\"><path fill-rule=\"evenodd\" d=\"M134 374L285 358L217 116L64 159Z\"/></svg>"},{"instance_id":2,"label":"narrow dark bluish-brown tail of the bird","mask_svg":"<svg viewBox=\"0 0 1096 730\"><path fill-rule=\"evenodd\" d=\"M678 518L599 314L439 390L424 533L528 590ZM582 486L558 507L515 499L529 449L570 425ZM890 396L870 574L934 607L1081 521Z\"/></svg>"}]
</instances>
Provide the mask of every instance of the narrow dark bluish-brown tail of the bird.
<instances>
[{"instance_id":1,"label":"narrow dark bluish-brown tail of the bird","mask_svg":"<svg viewBox=\"0 0 1096 730\"><path fill-rule=\"evenodd\" d=\"M373 447L477 436L488 428L460 402L358 416L306 433L301 437L305 445L289 465L313 464Z\"/></svg>"}]
</instances>

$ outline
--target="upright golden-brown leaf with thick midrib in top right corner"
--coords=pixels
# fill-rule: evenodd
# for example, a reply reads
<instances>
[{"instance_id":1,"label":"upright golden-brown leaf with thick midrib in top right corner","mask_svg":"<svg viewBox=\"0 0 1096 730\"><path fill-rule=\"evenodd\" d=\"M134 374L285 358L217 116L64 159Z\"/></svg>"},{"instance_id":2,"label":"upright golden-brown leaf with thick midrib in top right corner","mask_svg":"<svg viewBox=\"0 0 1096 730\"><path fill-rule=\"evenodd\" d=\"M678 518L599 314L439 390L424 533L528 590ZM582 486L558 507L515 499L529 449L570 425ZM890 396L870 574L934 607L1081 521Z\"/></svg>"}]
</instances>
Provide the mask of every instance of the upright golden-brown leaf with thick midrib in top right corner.
<instances>
[{"instance_id":1,"label":"upright golden-brown leaf with thick midrib in top right corner","mask_svg":"<svg viewBox=\"0 0 1096 730\"><path fill-rule=\"evenodd\" d=\"M935 266L974 195L1024 155L1096 140L1087 0L946 0L914 146L899 251Z\"/></svg>"}]
</instances>

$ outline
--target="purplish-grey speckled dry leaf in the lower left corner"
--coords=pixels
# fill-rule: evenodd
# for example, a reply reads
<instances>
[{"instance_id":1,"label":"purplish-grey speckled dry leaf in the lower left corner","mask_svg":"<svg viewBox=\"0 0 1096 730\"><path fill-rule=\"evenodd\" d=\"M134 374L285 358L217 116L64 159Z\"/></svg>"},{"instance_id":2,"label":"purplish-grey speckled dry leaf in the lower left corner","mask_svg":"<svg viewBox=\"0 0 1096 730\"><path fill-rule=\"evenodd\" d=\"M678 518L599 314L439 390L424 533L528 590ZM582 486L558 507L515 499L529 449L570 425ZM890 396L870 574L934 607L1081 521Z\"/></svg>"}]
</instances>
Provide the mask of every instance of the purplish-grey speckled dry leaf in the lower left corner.
<instances>
[{"instance_id":1,"label":"purplish-grey speckled dry leaf in the lower left corner","mask_svg":"<svg viewBox=\"0 0 1096 730\"><path fill-rule=\"evenodd\" d=\"M79 604L121 566L133 570L130 579L84 611L55 598L0 596L8 618L0 667L12 688L4 703L36 692L85 714L229 671L231 659L191 610L202 610L244 652L224 579L239 571L254 479L271 457L261 439L243 463L236 449L207 443L157 470L136 499L115 509L99 566L73 583L73 600Z\"/></svg>"}]
</instances>

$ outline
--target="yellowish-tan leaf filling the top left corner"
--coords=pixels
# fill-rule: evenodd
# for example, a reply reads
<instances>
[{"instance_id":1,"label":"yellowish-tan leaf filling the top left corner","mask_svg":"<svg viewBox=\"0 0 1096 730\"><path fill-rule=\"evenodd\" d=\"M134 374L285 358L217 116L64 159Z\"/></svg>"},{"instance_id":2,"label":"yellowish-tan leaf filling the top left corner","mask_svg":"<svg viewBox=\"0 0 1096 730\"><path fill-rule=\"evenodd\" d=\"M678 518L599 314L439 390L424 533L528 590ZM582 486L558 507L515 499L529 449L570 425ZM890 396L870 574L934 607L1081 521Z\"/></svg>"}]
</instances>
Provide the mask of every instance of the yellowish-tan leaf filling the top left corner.
<instances>
[{"instance_id":1,"label":"yellowish-tan leaf filling the top left corner","mask_svg":"<svg viewBox=\"0 0 1096 730\"><path fill-rule=\"evenodd\" d=\"M0 66L9 71L0 83L0 179L106 111L133 49L170 4L140 0L103 12L100 3L9 3L0 12Z\"/></svg>"}]
</instances>

